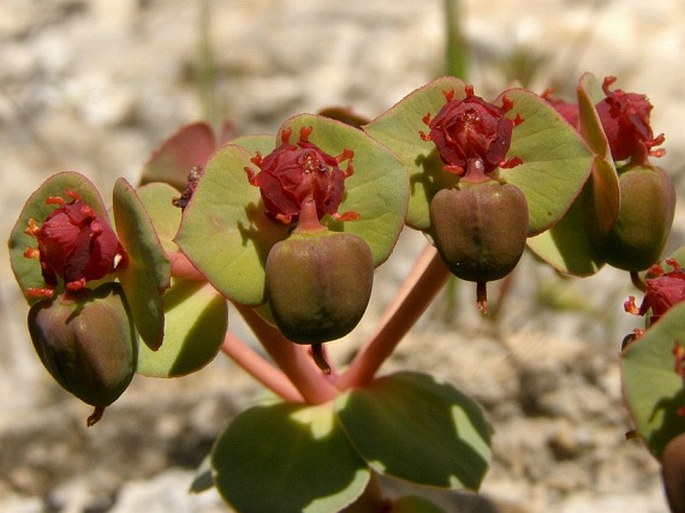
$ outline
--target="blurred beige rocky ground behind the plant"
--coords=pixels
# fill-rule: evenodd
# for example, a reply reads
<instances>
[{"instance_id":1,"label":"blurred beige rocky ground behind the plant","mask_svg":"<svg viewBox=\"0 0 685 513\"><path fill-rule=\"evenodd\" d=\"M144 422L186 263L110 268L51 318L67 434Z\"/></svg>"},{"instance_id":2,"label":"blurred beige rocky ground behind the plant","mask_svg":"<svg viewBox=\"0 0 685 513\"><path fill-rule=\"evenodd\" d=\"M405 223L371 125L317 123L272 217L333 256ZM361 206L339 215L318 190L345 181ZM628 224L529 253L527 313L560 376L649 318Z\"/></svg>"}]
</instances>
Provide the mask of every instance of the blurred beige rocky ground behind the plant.
<instances>
[{"instance_id":1,"label":"blurred beige rocky ground behind the plant","mask_svg":"<svg viewBox=\"0 0 685 513\"><path fill-rule=\"evenodd\" d=\"M655 104L653 126L667 136L662 165L682 193L679 0L461 4L477 91L494 93L514 76L538 91L564 91L586 70L617 75L620 87ZM273 131L291 114L331 104L373 116L443 69L438 0L216 0L206 2L209 25L202 5L0 4L2 240L26 197L57 170L81 171L111 190L118 176L135 180L147 154L182 123L211 116L245 133ZM211 55L201 52L203 35ZM672 246L683 241L680 209ZM368 332L421 242L403 237L340 355ZM222 358L183 379L136 378L86 429L88 409L40 366L6 254L0 262L0 510L227 511L213 492L187 489L214 437L259 387ZM605 270L561 280L526 258L513 290L497 323L473 313L470 288L445 294L387 364L449 379L483 404L496 428L481 496L425 493L455 512L665 513L656 464L624 439L630 424L616 353L637 325L621 309L631 292L625 276Z\"/></svg>"}]
</instances>

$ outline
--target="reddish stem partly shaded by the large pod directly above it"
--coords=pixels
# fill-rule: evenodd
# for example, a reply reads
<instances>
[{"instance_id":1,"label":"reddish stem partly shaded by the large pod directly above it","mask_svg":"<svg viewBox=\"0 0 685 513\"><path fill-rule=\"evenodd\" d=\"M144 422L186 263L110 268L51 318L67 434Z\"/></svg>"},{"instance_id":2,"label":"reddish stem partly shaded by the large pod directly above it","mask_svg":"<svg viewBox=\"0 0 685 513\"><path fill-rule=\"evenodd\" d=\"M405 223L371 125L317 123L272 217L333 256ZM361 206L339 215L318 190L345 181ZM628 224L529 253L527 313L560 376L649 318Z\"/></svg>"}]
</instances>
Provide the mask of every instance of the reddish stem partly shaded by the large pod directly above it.
<instances>
[{"instance_id":1,"label":"reddish stem partly shaded by the large pod directly above it","mask_svg":"<svg viewBox=\"0 0 685 513\"><path fill-rule=\"evenodd\" d=\"M234 306L305 402L321 404L338 394L338 389L316 367L305 346L285 338L252 308L238 303Z\"/></svg>"}]
</instances>

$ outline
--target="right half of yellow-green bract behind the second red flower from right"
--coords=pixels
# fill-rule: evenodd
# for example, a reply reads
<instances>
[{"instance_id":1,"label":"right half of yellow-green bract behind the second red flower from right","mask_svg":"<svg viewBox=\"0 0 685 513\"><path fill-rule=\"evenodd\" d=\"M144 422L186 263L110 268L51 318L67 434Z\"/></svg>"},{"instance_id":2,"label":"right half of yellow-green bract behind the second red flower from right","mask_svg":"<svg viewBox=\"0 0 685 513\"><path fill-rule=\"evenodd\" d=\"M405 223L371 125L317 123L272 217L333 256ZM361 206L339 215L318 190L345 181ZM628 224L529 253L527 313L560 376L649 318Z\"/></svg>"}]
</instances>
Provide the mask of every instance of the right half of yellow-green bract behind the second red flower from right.
<instances>
[{"instance_id":1,"label":"right half of yellow-green bract behind the second red flower from right","mask_svg":"<svg viewBox=\"0 0 685 513\"><path fill-rule=\"evenodd\" d=\"M507 114L521 115L507 158L523 163L501 169L500 178L516 185L528 201L529 233L536 235L557 223L571 207L587 180L592 152L578 132L544 99L525 89L510 89L513 104Z\"/></svg>"}]
</instances>

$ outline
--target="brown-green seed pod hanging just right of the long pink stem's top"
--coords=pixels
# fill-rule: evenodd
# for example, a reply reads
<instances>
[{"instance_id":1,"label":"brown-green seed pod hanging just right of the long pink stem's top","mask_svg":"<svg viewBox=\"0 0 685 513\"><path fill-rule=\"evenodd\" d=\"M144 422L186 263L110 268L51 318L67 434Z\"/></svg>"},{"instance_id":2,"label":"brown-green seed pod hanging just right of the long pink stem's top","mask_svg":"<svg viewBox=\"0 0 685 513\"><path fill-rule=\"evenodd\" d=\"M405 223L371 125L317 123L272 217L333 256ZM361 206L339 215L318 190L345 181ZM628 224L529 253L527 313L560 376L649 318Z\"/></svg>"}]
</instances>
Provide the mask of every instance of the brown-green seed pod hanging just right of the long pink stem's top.
<instances>
[{"instance_id":1,"label":"brown-green seed pod hanging just right of the long pink stem's top","mask_svg":"<svg viewBox=\"0 0 685 513\"><path fill-rule=\"evenodd\" d=\"M511 184L442 189L430 203L430 219L435 246L449 270L477 283L509 274L528 236L528 204Z\"/></svg>"}]
</instances>

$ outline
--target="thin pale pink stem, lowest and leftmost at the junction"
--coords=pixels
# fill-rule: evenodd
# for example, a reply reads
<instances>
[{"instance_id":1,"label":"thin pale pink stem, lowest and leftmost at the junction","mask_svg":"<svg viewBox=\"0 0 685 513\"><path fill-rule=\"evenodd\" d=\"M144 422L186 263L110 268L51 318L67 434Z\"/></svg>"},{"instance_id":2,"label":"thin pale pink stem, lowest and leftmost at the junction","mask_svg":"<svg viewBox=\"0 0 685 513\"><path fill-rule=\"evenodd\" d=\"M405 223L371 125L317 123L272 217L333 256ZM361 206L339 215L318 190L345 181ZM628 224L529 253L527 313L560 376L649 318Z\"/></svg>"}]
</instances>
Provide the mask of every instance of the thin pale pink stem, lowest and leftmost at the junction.
<instances>
[{"instance_id":1,"label":"thin pale pink stem, lowest and leftmost at the junction","mask_svg":"<svg viewBox=\"0 0 685 513\"><path fill-rule=\"evenodd\" d=\"M286 401L303 402L288 377L233 333L226 333L221 350L248 374Z\"/></svg>"}]
</instances>

